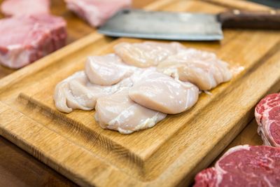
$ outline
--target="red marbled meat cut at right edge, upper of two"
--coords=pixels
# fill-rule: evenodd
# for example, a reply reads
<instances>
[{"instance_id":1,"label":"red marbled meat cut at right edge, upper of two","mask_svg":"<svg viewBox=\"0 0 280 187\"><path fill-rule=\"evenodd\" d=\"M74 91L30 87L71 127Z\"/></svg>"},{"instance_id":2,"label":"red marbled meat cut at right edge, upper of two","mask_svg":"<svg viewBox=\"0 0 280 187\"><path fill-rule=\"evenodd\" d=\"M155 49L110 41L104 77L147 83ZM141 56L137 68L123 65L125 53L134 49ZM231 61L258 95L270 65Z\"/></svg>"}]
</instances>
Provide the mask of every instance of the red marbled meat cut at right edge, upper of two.
<instances>
[{"instance_id":1,"label":"red marbled meat cut at right edge, upper of two","mask_svg":"<svg viewBox=\"0 0 280 187\"><path fill-rule=\"evenodd\" d=\"M267 95L258 103L255 120L264 144L280 147L280 93Z\"/></svg>"}]
</instances>

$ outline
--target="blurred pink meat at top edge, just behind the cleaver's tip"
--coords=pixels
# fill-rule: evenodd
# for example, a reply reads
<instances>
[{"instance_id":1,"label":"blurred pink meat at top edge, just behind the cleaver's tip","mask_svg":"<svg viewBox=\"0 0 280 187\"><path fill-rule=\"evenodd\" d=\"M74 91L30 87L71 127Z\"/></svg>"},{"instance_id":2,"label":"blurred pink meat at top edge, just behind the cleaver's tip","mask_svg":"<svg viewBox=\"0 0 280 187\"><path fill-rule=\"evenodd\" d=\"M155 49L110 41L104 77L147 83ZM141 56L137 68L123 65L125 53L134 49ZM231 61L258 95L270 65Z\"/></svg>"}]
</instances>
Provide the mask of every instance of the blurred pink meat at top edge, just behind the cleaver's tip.
<instances>
[{"instance_id":1,"label":"blurred pink meat at top edge, just behind the cleaver's tip","mask_svg":"<svg viewBox=\"0 0 280 187\"><path fill-rule=\"evenodd\" d=\"M131 0L65 0L67 8L98 27L122 8L128 8Z\"/></svg>"}]
</instances>

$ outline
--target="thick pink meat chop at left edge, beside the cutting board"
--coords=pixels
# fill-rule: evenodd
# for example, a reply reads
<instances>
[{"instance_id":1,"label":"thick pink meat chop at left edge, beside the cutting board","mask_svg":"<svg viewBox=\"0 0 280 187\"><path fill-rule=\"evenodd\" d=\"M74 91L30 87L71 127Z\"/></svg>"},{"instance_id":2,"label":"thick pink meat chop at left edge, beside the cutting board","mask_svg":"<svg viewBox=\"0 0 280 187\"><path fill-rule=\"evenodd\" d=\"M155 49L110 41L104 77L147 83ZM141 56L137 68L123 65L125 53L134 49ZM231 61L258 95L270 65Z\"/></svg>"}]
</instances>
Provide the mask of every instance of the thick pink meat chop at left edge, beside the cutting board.
<instances>
[{"instance_id":1,"label":"thick pink meat chop at left edge, beside the cutting board","mask_svg":"<svg viewBox=\"0 0 280 187\"><path fill-rule=\"evenodd\" d=\"M66 22L52 15L0 20L0 64L20 68L38 60L66 43Z\"/></svg>"}]
</instances>

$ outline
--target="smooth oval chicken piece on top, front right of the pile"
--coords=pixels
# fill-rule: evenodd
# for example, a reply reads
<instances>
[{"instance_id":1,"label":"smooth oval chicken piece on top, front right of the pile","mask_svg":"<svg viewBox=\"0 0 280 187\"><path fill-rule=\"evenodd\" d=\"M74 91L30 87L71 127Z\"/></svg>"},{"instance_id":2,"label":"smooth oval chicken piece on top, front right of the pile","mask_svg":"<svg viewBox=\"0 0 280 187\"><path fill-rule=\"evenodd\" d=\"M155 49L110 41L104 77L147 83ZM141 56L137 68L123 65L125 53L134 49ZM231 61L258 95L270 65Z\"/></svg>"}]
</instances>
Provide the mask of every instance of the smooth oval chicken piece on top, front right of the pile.
<instances>
[{"instance_id":1,"label":"smooth oval chicken piece on top, front right of the pile","mask_svg":"<svg viewBox=\"0 0 280 187\"><path fill-rule=\"evenodd\" d=\"M183 83L157 71L146 70L130 89L129 96L148 109L163 113L181 113L192 107L199 90L192 83Z\"/></svg>"}]
</instances>

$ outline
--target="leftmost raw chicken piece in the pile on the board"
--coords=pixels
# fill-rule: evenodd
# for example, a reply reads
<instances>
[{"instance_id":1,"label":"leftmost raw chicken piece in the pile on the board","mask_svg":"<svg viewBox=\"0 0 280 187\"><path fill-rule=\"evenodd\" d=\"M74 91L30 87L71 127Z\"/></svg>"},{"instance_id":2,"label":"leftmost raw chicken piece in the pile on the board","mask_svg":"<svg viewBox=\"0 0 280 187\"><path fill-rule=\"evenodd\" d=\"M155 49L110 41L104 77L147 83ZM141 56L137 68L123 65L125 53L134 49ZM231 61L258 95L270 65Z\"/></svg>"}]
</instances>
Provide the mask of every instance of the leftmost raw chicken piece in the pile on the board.
<instances>
[{"instance_id":1,"label":"leftmost raw chicken piece in the pile on the board","mask_svg":"<svg viewBox=\"0 0 280 187\"><path fill-rule=\"evenodd\" d=\"M131 86L130 79L113 86L94 85L87 79L84 71L78 71L57 84L54 95L55 106L65 113L70 113L73 109L90 111L94 109L99 97L111 95L120 88Z\"/></svg>"}]
</instances>

